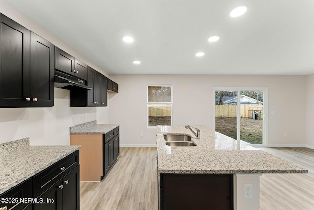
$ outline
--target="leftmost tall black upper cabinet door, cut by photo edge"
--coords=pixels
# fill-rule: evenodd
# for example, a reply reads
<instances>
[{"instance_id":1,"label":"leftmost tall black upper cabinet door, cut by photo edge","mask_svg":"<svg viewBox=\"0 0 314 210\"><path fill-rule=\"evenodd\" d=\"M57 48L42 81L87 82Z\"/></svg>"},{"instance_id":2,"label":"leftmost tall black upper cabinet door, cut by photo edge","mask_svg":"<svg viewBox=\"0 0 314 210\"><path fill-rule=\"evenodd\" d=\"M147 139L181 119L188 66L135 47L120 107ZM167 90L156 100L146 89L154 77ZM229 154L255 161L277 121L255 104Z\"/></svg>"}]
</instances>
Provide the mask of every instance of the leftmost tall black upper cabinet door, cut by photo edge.
<instances>
[{"instance_id":1,"label":"leftmost tall black upper cabinet door, cut by photo edge","mask_svg":"<svg viewBox=\"0 0 314 210\"><path fill-rule=\"evenodd\" d=\"M2 14L0 24L0 107L29 107L30 31Z\"/></svg>"}]
</instances>

